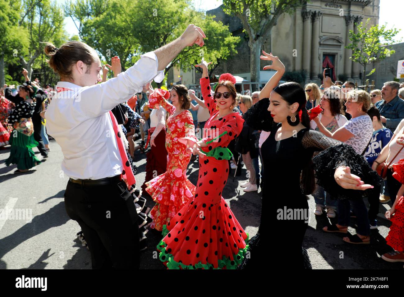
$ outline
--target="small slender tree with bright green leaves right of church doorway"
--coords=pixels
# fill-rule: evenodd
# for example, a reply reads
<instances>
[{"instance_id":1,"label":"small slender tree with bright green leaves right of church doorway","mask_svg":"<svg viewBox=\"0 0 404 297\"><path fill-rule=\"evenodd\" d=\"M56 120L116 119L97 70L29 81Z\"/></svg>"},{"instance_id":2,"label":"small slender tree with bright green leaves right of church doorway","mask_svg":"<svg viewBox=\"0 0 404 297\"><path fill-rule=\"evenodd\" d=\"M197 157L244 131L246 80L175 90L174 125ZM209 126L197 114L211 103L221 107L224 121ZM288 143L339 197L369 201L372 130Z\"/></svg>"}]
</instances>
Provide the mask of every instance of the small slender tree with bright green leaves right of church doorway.
<instances>
[{"instance_id":1,"label":"small slender tree with bright green leaves right of church doorway","mask_svg":"<svg viewBox=\"0 0 404 297\"><path fill-rule=\"evenodd\" d=\"M373 74L376 68L370 70L366 74L366 66L376 61L381 61L391 54L395 53L391 44L396 43L393 39L400 30L386 29L386 24L379 27L374 25L368 28L370 19L357 24L358 33L349 30L349 40L352 42L345 46L352 50L352 57L349 57L354 62L360 63L363 66L362 84L366 82L366 76ZM383 39L383 42L381 41Z\"/></svg>"}]
</instances>

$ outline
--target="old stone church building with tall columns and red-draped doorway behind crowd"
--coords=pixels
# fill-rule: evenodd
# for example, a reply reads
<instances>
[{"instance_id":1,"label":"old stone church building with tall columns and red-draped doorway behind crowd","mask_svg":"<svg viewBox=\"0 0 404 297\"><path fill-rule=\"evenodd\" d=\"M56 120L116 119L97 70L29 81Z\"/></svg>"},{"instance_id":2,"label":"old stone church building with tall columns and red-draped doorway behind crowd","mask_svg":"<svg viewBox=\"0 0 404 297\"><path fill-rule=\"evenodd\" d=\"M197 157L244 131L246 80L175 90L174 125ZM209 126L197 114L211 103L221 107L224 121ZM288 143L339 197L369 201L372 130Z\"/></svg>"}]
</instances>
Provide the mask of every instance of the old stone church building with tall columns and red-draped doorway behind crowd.
<instances>
[{"instance_id":1,"label":"old stone church building with tall columns and red-draped doorway behind crowd","mask_svg":"<svg viewBox=\"0 0 404 297\"><path fill-rule=\"evenodd\" d=\"M363 69L360 64L353 63L349 57L351 50L345 48L349 44L349 30L356 32L356 23L370 19L369 25L379 23L380 0L311 0L298 8L291 15L283 14L272 28L271 42L266 42L263 50L277 55L286 67L286 71L306 70L305 82L320 84L319 75L324 68L332 68L332 79L346 76L360 84ZM215 69L215 75L229 72L250 81L250 48L248 36L243 33L240 19L223 12L222 6L207 11L215 15L215 20L229 26L234 36L240 36L237 46L238 54L221 61ZM268 48L267 44L271 44ZM271 76L270 71L262 71L267 61L261 61L261 82L266 83ZM371 69L369 66L368 69ZM182 73L171 70L170 82L182 84L199 84L200 73L193 70ZM177 81L181 76L181 82Z\"/></svg>"}]
</instances>

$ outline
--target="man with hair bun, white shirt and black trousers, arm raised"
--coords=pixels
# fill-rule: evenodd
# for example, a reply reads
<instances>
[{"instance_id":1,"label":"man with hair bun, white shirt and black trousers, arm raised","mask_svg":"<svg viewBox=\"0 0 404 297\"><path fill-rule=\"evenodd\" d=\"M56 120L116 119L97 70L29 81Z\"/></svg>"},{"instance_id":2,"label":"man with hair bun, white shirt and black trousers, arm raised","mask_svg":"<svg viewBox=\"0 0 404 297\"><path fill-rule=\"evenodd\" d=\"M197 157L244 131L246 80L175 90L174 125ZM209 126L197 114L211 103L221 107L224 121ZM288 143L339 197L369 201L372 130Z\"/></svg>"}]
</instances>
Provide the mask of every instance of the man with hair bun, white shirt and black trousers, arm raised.
<instances>
[{"instance_id":1,"label":"man with hair bun, white shirt and black trousers, arm raised","mask_svg":"<svg viewBox=\"0 0 404 297\"><path fill-rule=\"evenodd\" d=\"M128 191L135 177L111 110L151 80L161 82L168 63L186 46L203 46L205 37L199 27L188 25L179 38L102 83L101 61L84 42L44 48L60 76L45 113L46 128L61 146L62 170L70 177L66 211L86 235L93 269L139 268L138 217Z\"/></svg>"}]
</instances>

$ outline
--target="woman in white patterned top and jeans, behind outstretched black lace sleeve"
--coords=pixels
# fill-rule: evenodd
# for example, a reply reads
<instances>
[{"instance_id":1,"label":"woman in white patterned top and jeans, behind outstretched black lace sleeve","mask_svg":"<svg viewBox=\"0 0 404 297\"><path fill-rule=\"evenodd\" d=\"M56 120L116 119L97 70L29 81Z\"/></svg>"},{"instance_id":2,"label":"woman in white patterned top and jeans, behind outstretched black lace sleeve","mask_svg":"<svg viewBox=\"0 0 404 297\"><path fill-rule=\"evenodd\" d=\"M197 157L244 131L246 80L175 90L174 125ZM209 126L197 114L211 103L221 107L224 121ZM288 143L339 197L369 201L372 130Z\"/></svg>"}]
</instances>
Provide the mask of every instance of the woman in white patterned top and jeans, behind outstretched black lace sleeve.
<instances>
[{"instance_id":1,"label":"woman in white patterned top and jeans, behind outstretched black lace sleeve","mask_svg":"<svg viewBox=\"0 0 404 297\"><path fill-rule=\"evenodd\" d=\"M349 92L347 97L345 106L347 107L347 113L349 113L352 118L334 133L328 131L318 117L314 118L314 121L320 129L320 132L328 137L351 145L358 154L362 154L373 135L372 120L370 116L366 114L370 108L370 96L366 91L354 90ZM333 193L329 194L332 195ZM338 200L338 232L347 233L350 219L350 205L353 206L353 211L357 217L357 234L356 236L344 237L343 240L348 243L369 244L370 224L368 211L362 199ZM323 230L326 232L335 232L328 230L328 227L324 227Z\"/></svg>"}]
</instances>

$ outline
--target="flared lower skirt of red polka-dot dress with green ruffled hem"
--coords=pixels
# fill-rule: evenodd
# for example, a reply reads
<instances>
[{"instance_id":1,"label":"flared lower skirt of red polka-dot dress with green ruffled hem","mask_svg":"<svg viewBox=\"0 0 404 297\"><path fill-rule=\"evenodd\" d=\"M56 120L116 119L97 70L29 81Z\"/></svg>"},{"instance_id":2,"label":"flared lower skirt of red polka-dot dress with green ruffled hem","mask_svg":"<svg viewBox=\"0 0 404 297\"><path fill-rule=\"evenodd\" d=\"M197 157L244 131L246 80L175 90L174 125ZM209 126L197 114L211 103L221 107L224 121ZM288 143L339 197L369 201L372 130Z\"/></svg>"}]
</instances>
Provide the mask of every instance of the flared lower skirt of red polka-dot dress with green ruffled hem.
<instances>
[{"instance_id":1,"label":"flared lower skirt of red polka-dot dress with green ruffled hem","mask_svg":"<svg viewBox=\"0 0 404 297\"><path fill-rule=\"evenodd\" d=\"M215 205L191 201L162 235L157 249L168 269L236 269L248 249L248 234L223 199Z\"/></svg>"}]
</instances>

